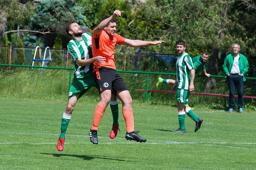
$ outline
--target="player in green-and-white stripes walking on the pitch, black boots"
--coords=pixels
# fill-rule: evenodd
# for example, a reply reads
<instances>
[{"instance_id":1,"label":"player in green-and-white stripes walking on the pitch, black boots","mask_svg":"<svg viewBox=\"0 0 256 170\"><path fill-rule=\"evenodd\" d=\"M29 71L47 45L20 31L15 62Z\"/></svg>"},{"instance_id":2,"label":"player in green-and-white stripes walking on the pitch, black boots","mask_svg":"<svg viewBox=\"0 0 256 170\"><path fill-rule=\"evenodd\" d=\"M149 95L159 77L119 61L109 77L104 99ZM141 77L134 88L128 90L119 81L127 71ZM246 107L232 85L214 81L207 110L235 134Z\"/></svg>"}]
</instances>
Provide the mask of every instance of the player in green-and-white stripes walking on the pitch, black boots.
<instances>
[{"instance_id":1,"label":"player in green-and-white stripes walking on the pitch, black boots","mask_svg":"<svg viewBox=\"0 0 256 170\"><path fill-rule=\"evenodd\" d=\"M179 116L179 129L172 132L186 132L185 116L188 116L196 122L195 132L201 127L203 119L197 117L193 111L185 106L184 103L188 99L190 92L194 91L195 69L191 57L185 52L186 45L182 40L176 42L176 50L180 55L176 62L176 82L173 91L177 89L177 108Z\"/></svg>"}]
</instances>

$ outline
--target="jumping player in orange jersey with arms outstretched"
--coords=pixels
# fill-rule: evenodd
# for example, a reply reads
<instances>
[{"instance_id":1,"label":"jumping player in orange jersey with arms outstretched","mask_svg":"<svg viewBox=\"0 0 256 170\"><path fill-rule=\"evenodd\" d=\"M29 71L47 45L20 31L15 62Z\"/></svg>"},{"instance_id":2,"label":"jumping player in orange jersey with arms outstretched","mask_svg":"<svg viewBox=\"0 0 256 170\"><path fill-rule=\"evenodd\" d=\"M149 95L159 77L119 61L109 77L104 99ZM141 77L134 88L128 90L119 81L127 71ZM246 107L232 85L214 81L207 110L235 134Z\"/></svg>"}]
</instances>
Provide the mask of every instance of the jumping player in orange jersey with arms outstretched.
<instances>
[{"instance_id":1,"label":"jumping player in orange jersey with arms outstretched","mask_svg":"<svg viewBox=\"0 0 256 170\"><path fill-rule=\"evenodd\" d=\"M116 17L121 16L123 11L116 10L113 15L101 21L101 23L92 31L92 55L93 57L106 57L105 62L94 62L94 80L98 85L100 93L100 103L96 106L92 128L89 132L90 140L93 144L98 144L97 130L100 119L103 116L106 107L114 93L123 106L123 116L126 124L127 140L137 142L146 142L145 138L140 137L134 131L134 122L132 115L132 98L123 79L117 74L115 66L115 46L126 45L132 47L154 46L165 43L165 41L141 41L125 39L116 34Z\"/></svg>"}]
</instances>

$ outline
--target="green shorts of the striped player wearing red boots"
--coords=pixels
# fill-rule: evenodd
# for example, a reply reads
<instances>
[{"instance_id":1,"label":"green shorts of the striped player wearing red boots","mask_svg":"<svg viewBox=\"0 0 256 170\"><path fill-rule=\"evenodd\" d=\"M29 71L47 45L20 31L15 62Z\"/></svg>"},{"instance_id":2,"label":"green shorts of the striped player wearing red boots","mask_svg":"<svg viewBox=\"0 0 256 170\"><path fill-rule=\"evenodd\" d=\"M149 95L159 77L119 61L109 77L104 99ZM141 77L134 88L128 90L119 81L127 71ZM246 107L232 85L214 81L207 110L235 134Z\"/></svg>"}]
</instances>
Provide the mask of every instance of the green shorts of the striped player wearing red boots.
<instances>
[{"instance_id":1,"label":"green shorts of the striped player wearing red boots","mask_svg":"<svg viewBox=\"0 0 256 170\"><path fill-rule=\"evenodd\" d=\"M88 91L91 87L97 87L92 71L84 74L83 77L73 78L71 87L68 92L68 97L76 96L80 93L78 99L84 95L86 91Z\"/></svg>"}]
</instances>

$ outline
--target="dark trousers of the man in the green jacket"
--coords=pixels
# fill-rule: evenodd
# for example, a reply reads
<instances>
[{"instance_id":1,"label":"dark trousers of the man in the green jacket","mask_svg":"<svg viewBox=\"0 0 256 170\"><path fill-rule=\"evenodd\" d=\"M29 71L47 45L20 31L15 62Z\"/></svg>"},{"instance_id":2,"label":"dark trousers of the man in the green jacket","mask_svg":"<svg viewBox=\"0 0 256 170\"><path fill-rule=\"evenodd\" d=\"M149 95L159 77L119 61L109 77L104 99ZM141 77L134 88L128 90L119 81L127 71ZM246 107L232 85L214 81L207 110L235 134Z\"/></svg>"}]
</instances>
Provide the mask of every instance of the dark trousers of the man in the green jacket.
<instances>
[{"instance_id":1,"label":"dark trousers of the man in the green jacket","mask_svg":"<svg viewBox=\"0 0 256 170\"><path fill-rule=\"evenodd\" d=\"M235 88L237 88L238 95L238 109L243 108L244 106L244 82L243 76L240 75L232 75L228 76L228 85L229 85L229 108L235 109Z\"/></svg>"}]
</instances>

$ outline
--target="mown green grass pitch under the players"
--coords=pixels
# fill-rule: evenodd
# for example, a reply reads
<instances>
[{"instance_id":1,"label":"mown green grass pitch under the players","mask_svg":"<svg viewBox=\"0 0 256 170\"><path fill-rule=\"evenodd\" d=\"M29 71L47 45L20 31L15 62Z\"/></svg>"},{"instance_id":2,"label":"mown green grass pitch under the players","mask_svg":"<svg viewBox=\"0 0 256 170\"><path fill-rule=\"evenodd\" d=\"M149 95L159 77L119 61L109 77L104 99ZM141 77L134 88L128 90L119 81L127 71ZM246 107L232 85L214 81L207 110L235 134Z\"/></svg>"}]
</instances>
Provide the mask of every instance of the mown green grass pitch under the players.
<instances>
[{"instance_id":1,"label":"mown green grass pitch under the players","mask_svg":"<svg viewBox=\"0 0 256 170\"><path fill-rule=\"evenodd\" d=\"M0 169L255 169L256 115L194 108L204 122L198 132L186 116L187 133L178 128L177 109L133 104L135 130L146 143L127 141L125 123L109 138L108 107L98 129L99 144L90 143L95 102L79 102L68 126L65 147L56 144L66 101L0 97ZM119 103L119 106L121 104ZM119 111L119 113L121 113Z\"/></svg>"}]
</instances>

